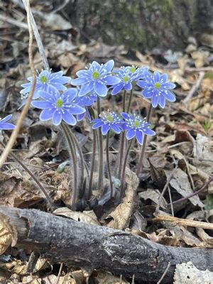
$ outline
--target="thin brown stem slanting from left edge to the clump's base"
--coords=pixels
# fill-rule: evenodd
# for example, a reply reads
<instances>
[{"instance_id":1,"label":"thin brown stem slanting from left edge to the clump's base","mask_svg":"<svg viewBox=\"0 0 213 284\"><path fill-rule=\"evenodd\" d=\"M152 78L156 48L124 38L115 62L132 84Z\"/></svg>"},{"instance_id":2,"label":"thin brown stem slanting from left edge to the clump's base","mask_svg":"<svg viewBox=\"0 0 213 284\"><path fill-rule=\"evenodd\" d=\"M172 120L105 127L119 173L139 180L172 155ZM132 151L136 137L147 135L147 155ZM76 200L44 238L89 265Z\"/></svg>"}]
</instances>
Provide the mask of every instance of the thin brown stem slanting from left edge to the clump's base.
<instances>
[{"instance_id":1,"label":"thin brown stem slanting from left edge to the clump's base","mask_svg":"<svg viewBox=\"0 0 213 284\"><path fill-rule=\"evenodd\" d=\"M3 142L0 141L1 146L3 146L5 148L5 145ZM23 168L23 170L26 170L26 172L31 176L31 178L34 180L34 182L38 185L38 187L40 188L41 192L43 192L43 195L46 197L46 200L48 201L49 205L50 205L50 210L51 212L53 212L53 200L49 197L48 192L45 190L45 187L43 187L43 185L40 183L40 181L35 177L35 175L33 175L33 173L31 172L31 170L28 169L28 167L21 162L21 160L19 160L19 158L11 151L10 155L13 157L14 160L16 160L16 162L21 165L21 167Z\"/></svg>"}]
</instances>

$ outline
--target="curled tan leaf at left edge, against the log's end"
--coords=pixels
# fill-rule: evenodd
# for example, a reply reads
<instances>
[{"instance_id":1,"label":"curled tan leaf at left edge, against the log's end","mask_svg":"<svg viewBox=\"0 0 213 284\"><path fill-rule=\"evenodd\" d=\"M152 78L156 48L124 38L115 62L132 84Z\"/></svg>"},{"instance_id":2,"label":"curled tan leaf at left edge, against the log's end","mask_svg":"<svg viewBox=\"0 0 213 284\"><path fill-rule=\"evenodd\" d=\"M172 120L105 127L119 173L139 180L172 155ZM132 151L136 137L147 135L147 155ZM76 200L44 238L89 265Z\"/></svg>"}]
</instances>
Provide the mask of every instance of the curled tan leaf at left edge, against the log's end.
<instances>
[{"instance_id":1,"label":"curled tan leaf at left edge, against the log's end","mask_svg":"<svg viewBox=\"0 0 213 284\"><path fill-rule=\"evenodd\" d=\"M16 228L10 219L4 214L0 214L0 255L9 248L15 246L17 241Z\"/></svg>"}]
</instances>

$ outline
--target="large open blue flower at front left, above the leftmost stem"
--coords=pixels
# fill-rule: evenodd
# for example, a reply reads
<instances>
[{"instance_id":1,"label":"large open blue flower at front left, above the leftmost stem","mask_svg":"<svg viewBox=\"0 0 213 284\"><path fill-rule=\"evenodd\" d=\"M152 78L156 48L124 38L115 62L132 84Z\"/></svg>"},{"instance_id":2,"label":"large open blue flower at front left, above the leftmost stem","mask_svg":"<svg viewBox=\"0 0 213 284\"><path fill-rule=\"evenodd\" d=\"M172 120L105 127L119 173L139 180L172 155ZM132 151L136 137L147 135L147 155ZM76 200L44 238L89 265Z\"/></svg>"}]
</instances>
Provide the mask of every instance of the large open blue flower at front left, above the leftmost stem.
<instances>
[{"instance_id":1,"label":"large open blue flower at front left, above the leftmost stem","mask_svg":"<svg viewBox=\"0 0 213 284\"><path fill-rule=\"evenodd\" d=\"M33 107L43 109L40 113L40 120L53 119L53 124L58 126L61 121L75 125L77 123L73 114L83 114L85 109L73 102L77 96L77 89L70 88L60 95L58 89L48 85L47 91L38 91L43 101L33 101Z\"/></svg>"}]
</instances>

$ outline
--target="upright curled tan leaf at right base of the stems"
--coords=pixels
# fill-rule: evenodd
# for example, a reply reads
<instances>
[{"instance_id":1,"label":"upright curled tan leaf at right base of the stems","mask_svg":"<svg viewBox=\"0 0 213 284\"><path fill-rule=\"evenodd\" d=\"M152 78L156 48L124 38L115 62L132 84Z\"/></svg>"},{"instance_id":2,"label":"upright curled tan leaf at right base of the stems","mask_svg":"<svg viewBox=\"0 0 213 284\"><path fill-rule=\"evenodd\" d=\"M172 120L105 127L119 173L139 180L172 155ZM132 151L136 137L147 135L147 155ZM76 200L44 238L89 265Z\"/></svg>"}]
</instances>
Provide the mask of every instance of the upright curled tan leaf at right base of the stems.
<instances>
[{"instance_id":1,"label":"upright curled tan leaf at right base of the stems","mask_svg":"<svg viewBox=\"0 0 213 284\"><path fill-rule=\"evenodd\" d=\"M112 220L107 224L107 226L114 229L124 229L128 226L129 219L133 210L133 198L136 195L136 190L138 187L138 178L135 173L131 170L126 169L126 192L124 200L119 204L116 209L109 214L107 218L112 218Z\"/></svg>"}]
</instances>

